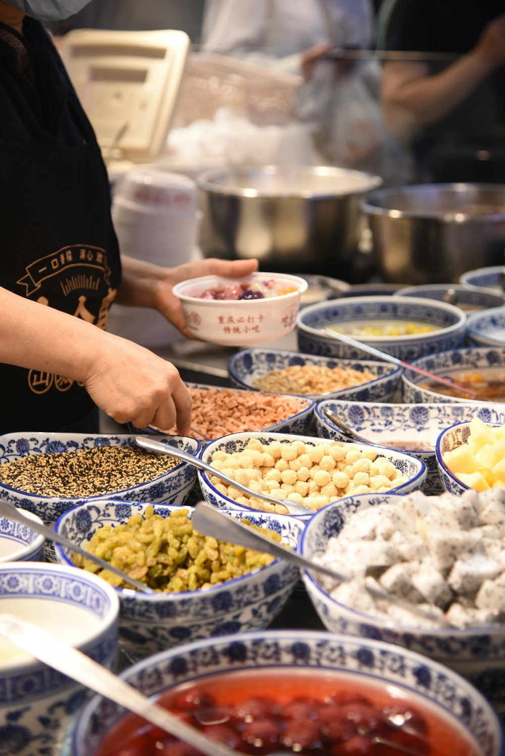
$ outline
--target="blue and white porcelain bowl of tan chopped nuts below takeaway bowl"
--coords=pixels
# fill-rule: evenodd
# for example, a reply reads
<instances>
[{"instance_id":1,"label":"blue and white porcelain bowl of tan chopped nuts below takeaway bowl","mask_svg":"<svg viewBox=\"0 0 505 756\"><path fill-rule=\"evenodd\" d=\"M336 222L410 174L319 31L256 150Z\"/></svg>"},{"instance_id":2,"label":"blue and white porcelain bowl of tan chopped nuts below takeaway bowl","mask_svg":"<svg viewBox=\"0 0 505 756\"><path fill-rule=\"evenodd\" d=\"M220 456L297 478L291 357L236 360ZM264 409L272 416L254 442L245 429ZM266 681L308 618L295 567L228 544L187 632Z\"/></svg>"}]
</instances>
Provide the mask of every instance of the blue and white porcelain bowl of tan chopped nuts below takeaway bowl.
<instances>
[{"instance_id":1,"label":"blue and white porcelain bowl of tan chopped nuts below takeaway bowl","mask_svg":"<svg viewBox=\"0 0 505 756\"><path fill-rule=\"evenodd\" d=\"M299 352L288 352L285 349L243 349L242 352L231 355L228 360L228 373L234 386L240 386L249 391L259 391L252 386L253 380L267 375L271 370L284 370L293 365L318 365L330 369L339 367L342 370L359 370L360 372L370 370L370 373L375 376L373 380L367 380L349 389L324 394L304 394L315 401L330 397L355 401L387 401L395 393L401 374L401 368L387 362L333 360L326 357L301 355ZM274 427L272 426L269 430L274 430ZM287 428L279 429L278 432L293 433Z\"/></svg>"}]
</instances>

